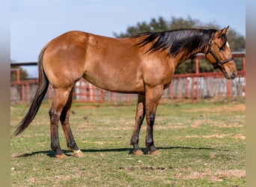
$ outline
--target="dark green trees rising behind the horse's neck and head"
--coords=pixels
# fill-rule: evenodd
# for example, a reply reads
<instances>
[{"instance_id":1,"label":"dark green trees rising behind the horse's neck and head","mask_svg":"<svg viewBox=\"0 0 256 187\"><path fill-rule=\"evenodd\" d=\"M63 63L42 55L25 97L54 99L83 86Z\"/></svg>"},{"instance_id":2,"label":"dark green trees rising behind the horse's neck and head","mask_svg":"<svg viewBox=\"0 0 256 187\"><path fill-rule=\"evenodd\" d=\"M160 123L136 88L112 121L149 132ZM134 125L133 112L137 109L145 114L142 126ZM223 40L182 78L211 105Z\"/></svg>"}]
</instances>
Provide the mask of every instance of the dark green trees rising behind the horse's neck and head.
<instances>
[{"instance_id":1,"label":"dark green trees rising behind the horse's neck and head","mask_svg":"<svg viewBox=\"0 0 256 187\"><path fill-rule=\"evenodd\" d=\"M228 25L226 25L228 26ZM143 32L153 32L153 31L168 31L173 29L180 28L215 28L222 29L219 25L212 22L204 24L201 23L198 19L192 19L188 16L186 19L182 17L176 18L171 17L171 21L166 21L161 16L158 19L151 19L150 22L138 22L135 26L129 26L125 33L114 33L115 37L131 37L132 35L143 33ZM246 51L246 38L243 35L238 34L232 28L228 32L228 43L231 46L232 52L245 52ZM242 59L237 61L237 70L241 70ZM179 67L175 70L175 73L195 73L195 65L193 60L187 60L180 64ZM213 72L213 66L210 63L207 63L206 60L201 60L199 64L200 72Z\"/></svg>"}]
</instances>

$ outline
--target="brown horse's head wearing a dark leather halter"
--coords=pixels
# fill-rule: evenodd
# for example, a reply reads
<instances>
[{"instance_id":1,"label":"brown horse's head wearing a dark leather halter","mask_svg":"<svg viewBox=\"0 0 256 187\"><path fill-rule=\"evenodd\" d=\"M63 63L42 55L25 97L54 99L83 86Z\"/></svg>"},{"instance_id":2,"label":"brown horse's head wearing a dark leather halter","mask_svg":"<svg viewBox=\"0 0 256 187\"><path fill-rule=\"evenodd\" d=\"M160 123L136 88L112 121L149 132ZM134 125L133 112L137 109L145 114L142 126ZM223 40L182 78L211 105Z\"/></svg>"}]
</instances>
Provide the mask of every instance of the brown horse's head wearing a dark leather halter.
<instances>
[{"instance_id":1,"label":"brown horse's head wearing a dark leather halter","mask_svg":"<svg viewBox=\"0 0 256 187\"><path fill-rule=\"evenodd\" d=\"M237 67L226 37L228 28L229 26L213 33L205 57L214 68L221 70L227 79L234 79L237 76Z\"/></svg>"}]
</instances>

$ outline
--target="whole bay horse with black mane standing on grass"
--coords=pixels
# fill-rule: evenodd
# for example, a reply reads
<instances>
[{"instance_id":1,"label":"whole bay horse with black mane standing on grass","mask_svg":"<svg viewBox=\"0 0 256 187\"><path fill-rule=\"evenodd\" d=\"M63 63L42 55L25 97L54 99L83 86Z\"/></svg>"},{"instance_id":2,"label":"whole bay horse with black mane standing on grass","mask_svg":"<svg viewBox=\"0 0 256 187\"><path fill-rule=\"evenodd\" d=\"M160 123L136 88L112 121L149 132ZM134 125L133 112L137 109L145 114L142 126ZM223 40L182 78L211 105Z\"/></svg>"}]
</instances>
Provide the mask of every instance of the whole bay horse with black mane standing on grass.
<instances>
[{"instance_id":1,"label":"whole bay horse with black mane standing on grass","mask_svg":"<svg viewBox=\"0 0 256 187\"><path fill-rule=\"evenodd\" d=\"M66 157L58 138L60 120L67 148L73 150L74 156L84 156L76 145L69 121L74 85L84 78L106 91L138 94L130 141L132 153L143 154L138 146L138 136L146 117L146 147L150 154L159 154L153 141L156 107L163 90L171 84L177 66L201 52L213 67L224 73L225 78L237 76L226 37L228 29L229 26L222 30L178 29L147 32L124 39L69 31L55 37L40 52L37 91L28 113L13 135L19 135L32 122L51 84L55 91L49 109L51 149L55 151L55 157Z\"/></svg>"}]
</instances>

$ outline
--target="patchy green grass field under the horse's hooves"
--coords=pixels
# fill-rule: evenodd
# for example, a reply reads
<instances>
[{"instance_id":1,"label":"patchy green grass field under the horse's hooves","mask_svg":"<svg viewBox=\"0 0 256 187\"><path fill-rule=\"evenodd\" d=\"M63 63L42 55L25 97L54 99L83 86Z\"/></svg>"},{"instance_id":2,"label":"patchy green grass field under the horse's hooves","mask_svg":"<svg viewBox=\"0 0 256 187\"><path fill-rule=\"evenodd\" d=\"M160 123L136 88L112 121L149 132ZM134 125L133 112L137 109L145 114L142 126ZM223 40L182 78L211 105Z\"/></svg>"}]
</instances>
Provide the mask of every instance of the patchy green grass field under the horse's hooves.
<instances>
[{"instance_id":1,"label":"patchy green grass field under the horse's hooves","mask_svg":"<svg viewBox=\"0 0 256 187\"><path fill-rule=\"evenodd\" d=\"M12 135L25 105L10 107ZM10 139L11 186L246 186L245 98L162 102L154 126L159 156L133 156L135 105L74 104L73 135L84 158L49 148L49 104L22 135ZM145 123L140 145L144 153Z\"/></svg>"}]
</instances>

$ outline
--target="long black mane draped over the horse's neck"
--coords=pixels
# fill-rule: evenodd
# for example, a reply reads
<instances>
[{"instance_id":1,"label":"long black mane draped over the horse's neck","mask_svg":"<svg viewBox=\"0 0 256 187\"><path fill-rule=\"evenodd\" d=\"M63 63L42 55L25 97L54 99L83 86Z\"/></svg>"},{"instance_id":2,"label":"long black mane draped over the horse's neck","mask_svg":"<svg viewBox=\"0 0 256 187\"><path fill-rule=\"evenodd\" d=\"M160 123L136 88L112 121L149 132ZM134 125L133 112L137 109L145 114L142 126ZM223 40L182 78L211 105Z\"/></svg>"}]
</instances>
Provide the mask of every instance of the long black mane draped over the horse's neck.
<instances>
[{"instance_id":1,"label":"long black mane draped over the horse's neck","mask_svg":"<svg viewBox=\"0 0 256 187\"><path fill-rule=\"evenodd\" d=\"M175 57L182 51L188 55L204 49L212 34L216 31L215 29L179 29L147 32L138 34L135 37L147 36L137 43L140 47L156 40L147 52L163 51L169 48L168 55Z\"/></svg>"}]
</instances>

